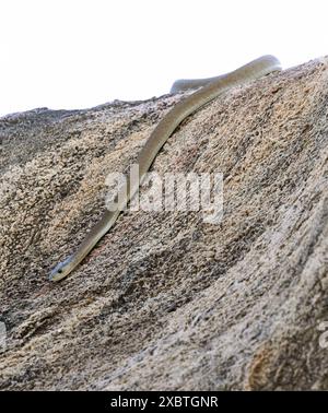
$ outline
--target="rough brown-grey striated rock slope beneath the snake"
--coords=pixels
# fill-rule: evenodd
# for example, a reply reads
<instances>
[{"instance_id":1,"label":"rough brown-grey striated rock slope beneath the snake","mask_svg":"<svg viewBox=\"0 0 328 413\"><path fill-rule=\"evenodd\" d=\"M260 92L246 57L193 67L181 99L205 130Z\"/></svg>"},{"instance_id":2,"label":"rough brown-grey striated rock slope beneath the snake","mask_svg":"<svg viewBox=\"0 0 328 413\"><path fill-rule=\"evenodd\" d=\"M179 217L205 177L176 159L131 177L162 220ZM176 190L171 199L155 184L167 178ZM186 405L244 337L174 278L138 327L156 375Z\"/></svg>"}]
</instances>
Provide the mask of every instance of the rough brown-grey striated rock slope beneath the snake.
<instances>
[{"instance_id":1,"label":"rough brown-grey striated rock slope beneath the snake","mask_svg":"<svg viewBox=\"0 0 328 413\"><path fill-rule=\"evenodd\" d=\"M220 225L127 211L47 280L183 96L0 119L0 389L328 389L328 59L232 90L159 154L224 174Z\"/></svg>"}]
</instances>

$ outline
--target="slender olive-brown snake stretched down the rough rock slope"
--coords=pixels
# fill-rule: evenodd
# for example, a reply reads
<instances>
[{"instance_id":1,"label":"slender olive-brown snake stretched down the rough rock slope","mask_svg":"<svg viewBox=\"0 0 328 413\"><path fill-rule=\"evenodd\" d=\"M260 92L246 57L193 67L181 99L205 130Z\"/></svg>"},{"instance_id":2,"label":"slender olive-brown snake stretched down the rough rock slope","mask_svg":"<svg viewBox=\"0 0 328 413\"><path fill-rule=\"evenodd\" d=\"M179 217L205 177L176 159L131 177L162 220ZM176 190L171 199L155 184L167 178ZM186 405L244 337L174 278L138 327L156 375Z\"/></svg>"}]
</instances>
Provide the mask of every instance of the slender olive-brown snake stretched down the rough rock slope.
<instances>
[{"instance_id":1,"label":"slender olive-brown snake stretched down the rough rock slope","mask_svg":"<svg viewBox=\"0 0 328 413\"><path fill-rule=\"evenodd\" d=\"M101 220L86 234L77 250L51 270L49 280L57 282L69 275L96 246L98 240L110 229L119 214L139 190L139 186L142 184L145 174L160 150L184 119L230 88L255 81L280 70L280 61L274 56L266 55L232 72L219 76L208 79L181 79L175 81L171 88L172 94L189 90L196 91L192 91L187 97L178 102L168 110L162 120L160 120L137 157L136 163L139 166L139 180L132 179L131 175L128 176L126 187L119 189L119 191L125 190L126 196L122 197L118 191L114 199L115 209L110 208L105 210Z\"/></svg>"}]
</instances>

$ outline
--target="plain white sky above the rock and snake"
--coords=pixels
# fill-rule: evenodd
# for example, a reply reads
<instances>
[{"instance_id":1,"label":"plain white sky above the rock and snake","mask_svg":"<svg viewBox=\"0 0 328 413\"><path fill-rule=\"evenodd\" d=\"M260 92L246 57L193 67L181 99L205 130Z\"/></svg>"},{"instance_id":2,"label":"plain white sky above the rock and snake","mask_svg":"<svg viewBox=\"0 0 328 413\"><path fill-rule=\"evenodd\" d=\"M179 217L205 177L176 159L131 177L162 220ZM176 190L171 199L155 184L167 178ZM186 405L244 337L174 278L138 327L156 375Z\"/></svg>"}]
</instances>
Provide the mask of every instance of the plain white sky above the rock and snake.
<instances>
[{"instance_id":1,"label":"plain white sky above the rock and snake","mask_svg":"<svg viewBox=\"0 0 328 413\"><path fill-rule=\"evenodd\" d=\"M1 0L0 116L144 99L262 55L328 55L327 0Z\"/></svg>"}]
</instances>

